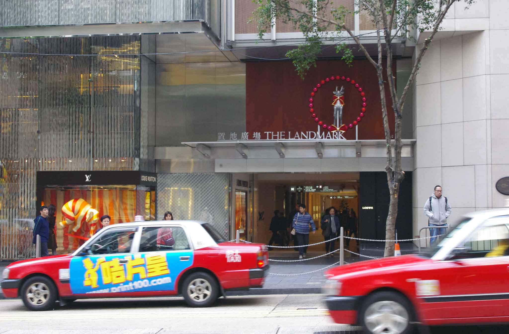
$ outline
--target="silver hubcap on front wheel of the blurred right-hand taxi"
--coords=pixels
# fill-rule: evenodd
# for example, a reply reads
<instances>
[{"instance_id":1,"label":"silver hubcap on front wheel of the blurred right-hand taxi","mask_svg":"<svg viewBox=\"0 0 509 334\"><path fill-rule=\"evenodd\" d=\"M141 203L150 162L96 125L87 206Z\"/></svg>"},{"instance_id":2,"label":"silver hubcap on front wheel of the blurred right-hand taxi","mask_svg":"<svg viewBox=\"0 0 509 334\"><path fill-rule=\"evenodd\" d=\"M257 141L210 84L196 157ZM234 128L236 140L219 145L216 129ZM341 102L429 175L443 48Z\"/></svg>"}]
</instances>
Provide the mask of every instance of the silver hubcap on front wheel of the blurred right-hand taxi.
<instances>
[{"instance_id":1,"label":"silver hubcap on front wheel of the blurred right-hand taxi","mask_svg":"<svg viewBox=\"0 0 509 334\"><path fill-rule=\"evenodd\" d=\"M377 301L367 308L364 324L374 334L400 334L407 328L408 318L402 304L392 300Z\"/></svg>"}]
</instances>

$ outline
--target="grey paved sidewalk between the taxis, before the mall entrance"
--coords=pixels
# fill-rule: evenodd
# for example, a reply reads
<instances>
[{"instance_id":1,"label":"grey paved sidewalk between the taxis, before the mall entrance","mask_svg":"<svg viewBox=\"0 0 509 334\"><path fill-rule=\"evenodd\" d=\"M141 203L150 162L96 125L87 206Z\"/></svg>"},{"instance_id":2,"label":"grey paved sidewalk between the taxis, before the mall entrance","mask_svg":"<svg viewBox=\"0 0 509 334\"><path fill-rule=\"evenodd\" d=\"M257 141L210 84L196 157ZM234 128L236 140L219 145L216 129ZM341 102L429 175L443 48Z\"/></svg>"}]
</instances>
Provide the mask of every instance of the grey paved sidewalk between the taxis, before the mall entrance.
<instances>
[{"instance_id":1,"label":"grey paved sidewalk between the taxis, before the mall entrance","mask_svg":"<svg viewBox=\"0 0 509 334\"><path fill-rule=\"evenodd\" d=\"M309 259L323 254L324 252L308 252L307 258ZM269 258L274 260L297 260L298 252L295 252L293 249L286 251L271 250ZM269 275L265 280L263 288L249 289L246 291L228 291L227 296L320 293L322 284L325 281L323 276L325 270L313 273L306 272L322 269L339 261L340 256L338 252L335 253L333 258L327 256L301 262L270 261ZM350 254L346 253L345 261L348 263L357 262L359 258L350 257ZM8 264L9 262L0 262L0 273ZM297 273L306 274L294 275ZM292 275L282 276L276 274ZM2 281L1 276L0 281ZM5 299L4 295L1 293L0 299Z\"/></svg>"}]
</instances>

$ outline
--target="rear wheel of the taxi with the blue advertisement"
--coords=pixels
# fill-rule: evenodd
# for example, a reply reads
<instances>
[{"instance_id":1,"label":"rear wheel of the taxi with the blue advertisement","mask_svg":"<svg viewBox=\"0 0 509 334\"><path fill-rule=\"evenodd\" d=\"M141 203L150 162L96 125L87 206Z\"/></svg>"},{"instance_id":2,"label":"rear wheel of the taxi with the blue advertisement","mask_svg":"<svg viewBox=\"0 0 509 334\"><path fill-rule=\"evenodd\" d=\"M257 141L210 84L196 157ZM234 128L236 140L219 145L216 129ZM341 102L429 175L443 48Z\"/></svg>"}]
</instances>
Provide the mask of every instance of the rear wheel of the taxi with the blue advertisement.
<instances>
[{"instance_id":1,"label":"rear wheel of the taxi with the blue advertisement","mask_svg":"<svg viewBox=\"0 0 509 334\"><path fill-rule=\"evenodd\" d=\"M206 308L219 296L219 287L214 277L206 272L194 272L184 281L182 295L186 303L194 308Z\"/></svg>"}]
</instances>

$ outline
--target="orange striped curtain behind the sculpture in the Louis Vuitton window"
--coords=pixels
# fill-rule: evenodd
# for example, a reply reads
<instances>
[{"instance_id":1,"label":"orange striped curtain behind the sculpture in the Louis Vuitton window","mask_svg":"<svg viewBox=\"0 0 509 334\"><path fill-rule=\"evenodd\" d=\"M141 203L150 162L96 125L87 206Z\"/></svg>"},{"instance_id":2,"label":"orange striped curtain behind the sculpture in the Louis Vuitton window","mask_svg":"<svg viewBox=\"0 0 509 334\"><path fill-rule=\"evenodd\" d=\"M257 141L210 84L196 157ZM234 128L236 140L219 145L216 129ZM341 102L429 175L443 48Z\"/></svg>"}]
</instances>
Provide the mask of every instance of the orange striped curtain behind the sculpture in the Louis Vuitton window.
<instances>
[{"instance_id":1,"label":"orange striped curtain behind the sculpture in the Louis Vuitton window","mask_svg":"<svg viewBox=\"0 0 509 334\"><path fill-rule=\"evenodd\" d=\"M136 190L131 189L99 189L99 190L56 190L46 189L43 193L44 205L53 204L56 207L56 244L60 252L62 250L75 250L90 238L90 225L83 222L81 228L73 234L72 229L75 224L61 227L59 222L63 220L62 206L70 200L83 199L87 201L93 209L99 211L99 217L109 215L110 224L119 224L122 222L134 221L136 214ZM97 228L102 226L97 222ZM64 252L65 253L65 252Z\"/></svg>"}]
</instances>

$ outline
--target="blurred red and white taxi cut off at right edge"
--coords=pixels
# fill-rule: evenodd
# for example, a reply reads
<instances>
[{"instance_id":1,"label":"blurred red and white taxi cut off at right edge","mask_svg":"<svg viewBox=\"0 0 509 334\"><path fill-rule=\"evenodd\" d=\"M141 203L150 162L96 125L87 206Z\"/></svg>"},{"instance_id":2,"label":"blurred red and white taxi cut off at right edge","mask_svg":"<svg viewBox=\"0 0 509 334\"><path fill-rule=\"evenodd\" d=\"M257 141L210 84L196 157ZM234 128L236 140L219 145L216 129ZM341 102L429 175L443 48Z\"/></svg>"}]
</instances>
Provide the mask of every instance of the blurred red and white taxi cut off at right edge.
<instances>
[{"instance_id":1,"label":"blurred red and white taxi cut off at right edge","mask_svg":"<svg viewBox=\"0 0 509 334\"><path fill-rule=\"evenodd\" d=\"M509 322L509 209L477 211L418 255L362 261L325 273L336 323L367 333L413 324Z\"/></svg>"}]
</instances>

